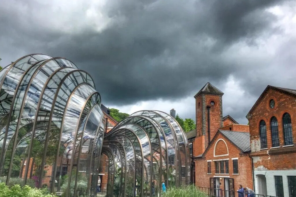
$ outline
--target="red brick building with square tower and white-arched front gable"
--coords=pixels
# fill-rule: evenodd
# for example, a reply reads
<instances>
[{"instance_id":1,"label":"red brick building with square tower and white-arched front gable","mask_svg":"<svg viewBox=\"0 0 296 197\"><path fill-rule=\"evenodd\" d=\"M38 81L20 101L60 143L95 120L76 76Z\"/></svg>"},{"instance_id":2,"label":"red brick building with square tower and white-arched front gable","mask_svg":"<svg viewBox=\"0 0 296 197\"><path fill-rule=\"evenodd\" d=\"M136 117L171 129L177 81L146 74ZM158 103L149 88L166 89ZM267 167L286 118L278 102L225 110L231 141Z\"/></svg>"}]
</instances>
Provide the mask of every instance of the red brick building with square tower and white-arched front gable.
<instances>
[{"instance_id":1,"label":"red brick building with square tower and white-arched front gable","mask_svg":"<svg viewBox=\"0 0 296 197\"><path fill-rule=\"evenodd\" d=\"M193 158L192 182L230 191L239 184L253 188L249 126L223 117L222 96L210 83L194 96L196 130L186 133Z\"/></svg>"}]
</instances>

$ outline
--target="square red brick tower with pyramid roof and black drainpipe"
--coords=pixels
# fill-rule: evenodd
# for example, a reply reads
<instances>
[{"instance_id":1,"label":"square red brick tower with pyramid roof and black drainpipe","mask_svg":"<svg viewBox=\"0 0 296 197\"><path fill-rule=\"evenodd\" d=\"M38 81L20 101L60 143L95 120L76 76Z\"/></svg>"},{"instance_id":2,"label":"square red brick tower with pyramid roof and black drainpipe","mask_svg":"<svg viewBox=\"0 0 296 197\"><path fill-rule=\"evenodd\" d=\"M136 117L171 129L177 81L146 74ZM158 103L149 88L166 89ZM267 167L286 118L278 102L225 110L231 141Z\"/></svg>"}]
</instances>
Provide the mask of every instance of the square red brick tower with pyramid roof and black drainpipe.
<instances>
[{"instance_id":1,"label":"square red brick tower with pyramid roof and black drainpipe","mask_svg":"<svg viewBox=\"0 0 296 197\"><path fill-rule=\"evenodd\" d=\"M213 139L218 129L223 126L222 96L218 88L207 82L197 92L195 98L196 109L196 139L194 156L202 154Z\"/></svg>"}]
</instances>

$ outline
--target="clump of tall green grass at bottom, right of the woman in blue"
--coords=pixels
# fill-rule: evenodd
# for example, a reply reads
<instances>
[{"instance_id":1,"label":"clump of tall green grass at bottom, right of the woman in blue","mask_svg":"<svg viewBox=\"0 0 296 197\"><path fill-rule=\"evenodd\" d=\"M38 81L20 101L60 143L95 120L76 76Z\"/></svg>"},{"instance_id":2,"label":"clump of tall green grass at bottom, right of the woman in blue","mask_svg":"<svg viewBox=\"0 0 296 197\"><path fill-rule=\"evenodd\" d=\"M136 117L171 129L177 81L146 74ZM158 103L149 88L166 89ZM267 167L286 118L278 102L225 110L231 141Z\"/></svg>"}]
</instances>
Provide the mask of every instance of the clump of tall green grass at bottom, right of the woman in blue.
<instances>
[{"instance_id":1,"label":"clump of tall green grass at bottom, right of the woman in blue","mask_svg":"<svg viewBox=\"0 0 296 197\"><path fill-rule=\"evenodd\" d=\"M194 185L187 185L180 188L169 188L162 197L207 197L207 195Z\"/></svg>"}]
</instances>

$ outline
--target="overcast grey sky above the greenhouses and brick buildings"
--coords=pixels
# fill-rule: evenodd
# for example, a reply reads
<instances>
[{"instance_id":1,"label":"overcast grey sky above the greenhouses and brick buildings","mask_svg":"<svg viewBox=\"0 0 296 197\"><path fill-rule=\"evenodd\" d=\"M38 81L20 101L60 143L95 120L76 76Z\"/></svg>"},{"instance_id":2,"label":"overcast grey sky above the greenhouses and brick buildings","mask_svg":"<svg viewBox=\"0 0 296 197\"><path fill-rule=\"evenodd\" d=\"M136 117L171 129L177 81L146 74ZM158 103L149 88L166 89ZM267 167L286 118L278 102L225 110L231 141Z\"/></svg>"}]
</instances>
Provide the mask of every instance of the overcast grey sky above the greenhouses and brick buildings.
<instances>
[{"instance_id":1,"label":"overcast grey sky above the greenhouses and brick buildings","mask_svg":"<svg viewBox=\"0 0 296 197\"><path fill-rule=\"evenodd\" d=\"M211 82L239 123L265 87L296 89L296 1L1 0L0 64L65 57L122 112L175 108L195 120Z\"/></svg>"}]
</instances>

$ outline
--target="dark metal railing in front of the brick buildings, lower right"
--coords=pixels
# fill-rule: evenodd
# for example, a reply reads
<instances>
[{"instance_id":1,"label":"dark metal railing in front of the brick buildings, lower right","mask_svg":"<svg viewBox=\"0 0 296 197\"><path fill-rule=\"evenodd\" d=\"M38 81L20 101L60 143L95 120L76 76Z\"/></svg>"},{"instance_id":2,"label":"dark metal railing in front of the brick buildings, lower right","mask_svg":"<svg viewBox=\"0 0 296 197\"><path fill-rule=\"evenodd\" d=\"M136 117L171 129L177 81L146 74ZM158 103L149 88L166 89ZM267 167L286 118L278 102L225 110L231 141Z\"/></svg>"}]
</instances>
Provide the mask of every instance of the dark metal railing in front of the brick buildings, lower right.
<instances>
[{"instance_id":1,"label":"dark metal railing in front of the brick buildings, lower right","mask_svg":"<svg viewBox=\"0 0 296 197\"><path fill-rule=\"evenodd\" d=\"M203 193L207 194L210 197L238 197L238 192L234 190L223 190L223 189L215 189L215 188L205 188L198 187L197 188ZM243 193L243 197L248 193ZM270 195L262 195L262 194L250 194L250 197L276 197Z\"/></svg>"}]
</instances>

